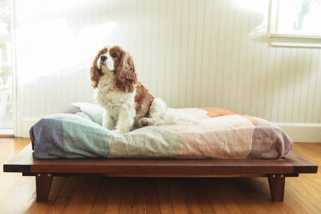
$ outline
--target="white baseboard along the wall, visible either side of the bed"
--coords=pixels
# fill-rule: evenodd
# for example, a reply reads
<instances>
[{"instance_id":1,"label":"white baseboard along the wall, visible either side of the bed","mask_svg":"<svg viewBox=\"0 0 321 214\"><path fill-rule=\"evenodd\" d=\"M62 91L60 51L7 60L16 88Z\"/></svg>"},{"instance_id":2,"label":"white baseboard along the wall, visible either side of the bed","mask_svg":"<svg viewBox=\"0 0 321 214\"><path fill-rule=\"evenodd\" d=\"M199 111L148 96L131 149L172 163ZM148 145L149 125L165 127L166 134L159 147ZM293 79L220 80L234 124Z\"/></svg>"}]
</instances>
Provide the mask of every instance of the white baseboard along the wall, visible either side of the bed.
<instances>
[{"instance_id":1,"label":"white baseboard along the wall, visible either side of the bed","mask_svg":"<svg viewBox=\"0 0 321 214\"><path fill-rule=\"evenodd\" d=\"M38 119L25 118L22 120L22 136L29 137L29 129ZM321 143L321 124L305 123L274 123L280 126L293 142Z\"/></svg>"}]
</instances>

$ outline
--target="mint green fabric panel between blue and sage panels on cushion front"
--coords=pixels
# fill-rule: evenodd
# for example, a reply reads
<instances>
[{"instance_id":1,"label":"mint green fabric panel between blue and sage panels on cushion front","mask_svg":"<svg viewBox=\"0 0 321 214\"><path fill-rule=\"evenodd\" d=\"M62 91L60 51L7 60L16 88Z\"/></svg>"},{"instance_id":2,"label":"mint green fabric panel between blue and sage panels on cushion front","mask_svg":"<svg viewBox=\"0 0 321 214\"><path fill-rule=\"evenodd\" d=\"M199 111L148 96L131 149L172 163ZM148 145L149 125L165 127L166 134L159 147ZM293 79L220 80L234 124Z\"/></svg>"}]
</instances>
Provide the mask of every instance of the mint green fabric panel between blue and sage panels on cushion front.
<instances>
[{"instance_id":1,"label":"mint green fabric panel between blue and sage panels on cushion front","mask_svg":"<svg viewBox=\"0 0 321 214\"><path fill-rule=\"evenodd\" d=\"M62 121L67 158L108 158L107 129L77 115L65 115Z\"/></svg>"}]
</instances>

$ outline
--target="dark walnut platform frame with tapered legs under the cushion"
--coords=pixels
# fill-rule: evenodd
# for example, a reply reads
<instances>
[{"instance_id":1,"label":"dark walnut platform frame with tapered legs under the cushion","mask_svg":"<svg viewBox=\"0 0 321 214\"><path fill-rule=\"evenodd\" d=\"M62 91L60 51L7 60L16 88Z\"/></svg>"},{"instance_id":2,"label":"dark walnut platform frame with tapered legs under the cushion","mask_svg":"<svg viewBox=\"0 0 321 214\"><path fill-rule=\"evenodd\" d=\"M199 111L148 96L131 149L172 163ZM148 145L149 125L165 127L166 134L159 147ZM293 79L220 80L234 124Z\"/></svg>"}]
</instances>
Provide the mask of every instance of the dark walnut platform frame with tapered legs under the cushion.
<instances>
[{"instance_id":1,"label":"dark walnut platform frame with tapered legs under the cushion","mask_svg":"<svg viewBox=\"0 0 321 214\"><path fill-rule=\"evenodd\" d=\"M268 177L273 201L283 201L285 177L317 173L317 165L290 151L282 159L34 158L31 143L4 164L4 172L36 177L37 202L46 202L54 176Z\"/></svg>"}]
</instances>

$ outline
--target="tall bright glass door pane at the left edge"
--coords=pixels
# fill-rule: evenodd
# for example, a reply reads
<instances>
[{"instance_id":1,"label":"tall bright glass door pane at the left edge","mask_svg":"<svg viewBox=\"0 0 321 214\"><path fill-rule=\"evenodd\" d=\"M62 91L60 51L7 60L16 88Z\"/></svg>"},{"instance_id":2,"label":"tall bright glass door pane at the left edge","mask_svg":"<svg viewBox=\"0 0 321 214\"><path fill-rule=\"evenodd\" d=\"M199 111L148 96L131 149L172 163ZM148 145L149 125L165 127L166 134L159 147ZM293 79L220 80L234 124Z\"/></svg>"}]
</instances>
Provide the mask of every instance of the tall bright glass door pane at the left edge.
<instances>
[{"instance_id":1,"label":"tall bright glass door pane at the left edge","mask_svg":"<svg viewBox=\"0 0 321 214\"><path fill-rule=\"evenodd\" d=\"M0 0L0 134L13 133L10 1Z\"/></svg>"}]
</instances>

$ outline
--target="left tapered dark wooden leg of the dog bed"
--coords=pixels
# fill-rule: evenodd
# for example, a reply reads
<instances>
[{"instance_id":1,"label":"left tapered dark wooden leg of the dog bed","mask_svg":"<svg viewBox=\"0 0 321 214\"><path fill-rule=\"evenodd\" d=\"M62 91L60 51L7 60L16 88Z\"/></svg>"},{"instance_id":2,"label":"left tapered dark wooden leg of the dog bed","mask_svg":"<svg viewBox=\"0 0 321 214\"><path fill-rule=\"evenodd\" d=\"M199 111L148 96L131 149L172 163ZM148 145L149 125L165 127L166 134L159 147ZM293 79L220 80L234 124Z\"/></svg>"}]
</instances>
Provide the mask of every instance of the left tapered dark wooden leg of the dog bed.
<instances>
[{"instance_id":1,"label":"left tapered dark wooden leg of the dog bed","mask_svg":"<svg viewBox=\"0 0 321 214\"><path fill-rule=\"evenodd\" d=\"M52 173L36 173L37 202L47 201L52 178L53 178Z\"/></svg>"}]
</instances>

